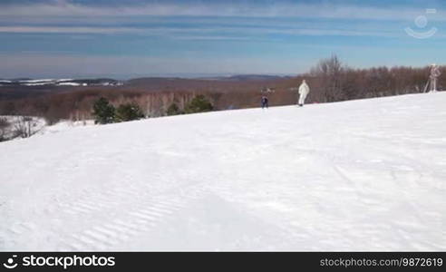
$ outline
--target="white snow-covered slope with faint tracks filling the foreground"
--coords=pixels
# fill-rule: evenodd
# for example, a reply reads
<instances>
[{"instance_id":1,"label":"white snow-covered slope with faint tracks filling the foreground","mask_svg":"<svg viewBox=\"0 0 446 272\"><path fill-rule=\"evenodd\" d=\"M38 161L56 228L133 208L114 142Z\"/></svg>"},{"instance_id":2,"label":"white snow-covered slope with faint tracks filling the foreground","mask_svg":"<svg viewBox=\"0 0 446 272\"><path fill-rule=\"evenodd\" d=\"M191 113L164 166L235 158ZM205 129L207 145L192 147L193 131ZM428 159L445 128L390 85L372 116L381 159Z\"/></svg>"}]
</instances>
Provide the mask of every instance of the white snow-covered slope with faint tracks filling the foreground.
<instances>
[{"instance_id":1,"label":"white snow-covered slope with faint tracks filling the foreground","mask_svg":"<svg viewBox=\"0 0 446 272\"><path fill-rule=\"evenodd\" d=\"M1 250L445 250L446 93L0 143Z\"/></svg>"}]
</instances>

